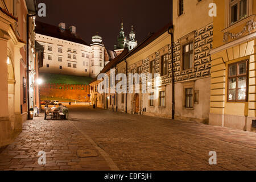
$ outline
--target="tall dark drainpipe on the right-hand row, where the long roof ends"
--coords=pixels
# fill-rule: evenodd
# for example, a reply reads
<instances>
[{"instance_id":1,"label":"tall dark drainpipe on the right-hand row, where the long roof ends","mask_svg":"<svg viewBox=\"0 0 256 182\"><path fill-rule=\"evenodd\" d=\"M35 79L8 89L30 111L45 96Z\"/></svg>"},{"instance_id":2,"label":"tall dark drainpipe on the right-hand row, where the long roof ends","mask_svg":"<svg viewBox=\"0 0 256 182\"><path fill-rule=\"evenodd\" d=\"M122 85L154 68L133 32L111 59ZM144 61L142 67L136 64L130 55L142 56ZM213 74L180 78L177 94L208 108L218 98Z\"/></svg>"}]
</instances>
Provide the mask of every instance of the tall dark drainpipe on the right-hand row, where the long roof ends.
<instances>
[{"instance_id":1,"label":"tall dark drainpipe on the right-hand row, where the long roof ends","mask_svg":"<svg viewBox=\"0 0 256 182\"><path fill-rule=\"evenodd\" d=\"M172 119L175 116L175 80L174 80L174 26L168 28L168 34L171 35L172 45Z\"/></svg>"}]
</instances>

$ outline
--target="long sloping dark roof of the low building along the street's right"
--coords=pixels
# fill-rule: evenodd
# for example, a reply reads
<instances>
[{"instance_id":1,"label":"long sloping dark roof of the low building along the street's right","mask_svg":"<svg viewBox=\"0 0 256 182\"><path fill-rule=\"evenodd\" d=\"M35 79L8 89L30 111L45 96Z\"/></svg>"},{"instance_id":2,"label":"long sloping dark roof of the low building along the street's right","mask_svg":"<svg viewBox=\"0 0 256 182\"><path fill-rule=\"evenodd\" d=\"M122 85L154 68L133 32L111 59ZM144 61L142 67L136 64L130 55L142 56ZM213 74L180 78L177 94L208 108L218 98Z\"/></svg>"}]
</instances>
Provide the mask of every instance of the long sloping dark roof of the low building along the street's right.
<instances>
[{"instance_id":1,"label":"long sloping dark roof of the low building along the street's right","mask_svg":"<svg viewBox=\"0 0 256 182\"><path fill-rule=\"evenodd\" d=\"M132 49L130 52L128 51L127 47L125 47L124 51L118 55L117 57L115 57L115 59L113 59L112 61L110 61L104 69L102 69L101 73L106 73L108 72L111 68L113 68L116 64L120 63L121 61L125 60L127 57L134 55L135 53L137 53L138 51L140 51L141 49L143 49L144 47L146 47L148 44L150 44L151 42L153 42L155 39L157 39L159 36L161 36L162 34L164 34L165 32L168 31L168 28L172 26L172 23L168 23L166 24L166 26L164 26L163 28L161 28L159 31L157 31L154 34L150 34L147 36L146 39L144 39L140 44L138 44L137 47L135 47L134 49ZM170 40L171 42L171 40ZM90 82L90 84L94 81L97 81L97 77L94 78L94 80L92 80Z\"/></svg>"}]
</instances>

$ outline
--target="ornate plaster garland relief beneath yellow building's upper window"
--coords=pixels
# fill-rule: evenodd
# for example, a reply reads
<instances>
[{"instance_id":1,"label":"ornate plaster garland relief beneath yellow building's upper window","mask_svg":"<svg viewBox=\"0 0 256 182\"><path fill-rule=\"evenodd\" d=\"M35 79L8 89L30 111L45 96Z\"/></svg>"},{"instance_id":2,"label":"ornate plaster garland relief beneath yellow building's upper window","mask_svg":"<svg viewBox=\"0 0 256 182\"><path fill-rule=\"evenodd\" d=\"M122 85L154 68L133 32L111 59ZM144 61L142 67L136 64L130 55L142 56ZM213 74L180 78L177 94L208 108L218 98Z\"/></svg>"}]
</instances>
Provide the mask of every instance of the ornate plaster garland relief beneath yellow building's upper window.
<instances>
[{"instance_id":1,"label":"ornate plaster garland relief beneath yellow building's upper window","mask_svg":"<svg viewBox=\"0 0 256 182\"><path fill-rule=\"evenodd\" d=\"M224 36L223 36L223 42L228 42L229 38L230 39L237 39L240 38L243 34L245 34L246 32L249 32L249 34L251 33L252 30L254 30L256 28L256 22L254 22L253 19L251 19L249 22L246 23L246 26L244 26L242 28L241 32L238 33L232 33L232 32L225 32Z\"/></svg>"}]
</instances>

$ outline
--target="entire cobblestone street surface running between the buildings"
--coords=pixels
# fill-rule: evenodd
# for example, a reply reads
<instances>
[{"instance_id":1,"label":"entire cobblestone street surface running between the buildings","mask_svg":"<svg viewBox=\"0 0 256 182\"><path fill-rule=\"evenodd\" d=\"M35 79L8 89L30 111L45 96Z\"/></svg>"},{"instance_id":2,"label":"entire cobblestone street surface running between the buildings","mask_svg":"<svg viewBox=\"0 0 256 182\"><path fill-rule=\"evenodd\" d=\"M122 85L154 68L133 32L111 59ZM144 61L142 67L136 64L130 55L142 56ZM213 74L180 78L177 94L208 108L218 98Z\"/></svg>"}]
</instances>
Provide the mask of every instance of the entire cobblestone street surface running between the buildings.
<instances>
[{"instance_id":1,"label":"entire cobblestone street surface running between the buildings","mask_svg":"<svg viewBox=\"0 0 256 182\"><path fill-rule=\"evenodd\" d=\"M0 170L256 170L256 134L201 123L69 107L69 121L27 121ZM46 151L47 164L37 156ZM80 158L77 150L96 152ZM209 165L209 151L217 165Z\"/></svg>"}]
</instances>

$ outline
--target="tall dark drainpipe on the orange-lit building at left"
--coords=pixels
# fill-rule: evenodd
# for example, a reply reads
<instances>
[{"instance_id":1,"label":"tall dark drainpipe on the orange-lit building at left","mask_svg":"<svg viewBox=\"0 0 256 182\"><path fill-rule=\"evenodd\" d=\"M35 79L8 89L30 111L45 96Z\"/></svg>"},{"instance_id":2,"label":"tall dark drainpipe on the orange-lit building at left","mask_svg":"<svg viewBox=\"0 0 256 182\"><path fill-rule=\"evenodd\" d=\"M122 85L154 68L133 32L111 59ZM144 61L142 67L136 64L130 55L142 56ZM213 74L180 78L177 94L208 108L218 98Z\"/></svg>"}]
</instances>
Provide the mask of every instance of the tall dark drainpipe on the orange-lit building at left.
<instances>
[{"instance_id":1,"label":"tall dark drainpipe on the orange-lit building at left","mask_svg":"<svg viewBox=\"0 0 256 182\"><path fill-rule=\"evenodd\" d=\"M29 30L30 30L30 17L36 16L27 14L27 119L30 118L30 61L29 61Z\"/></svg>"}]
</instances>

